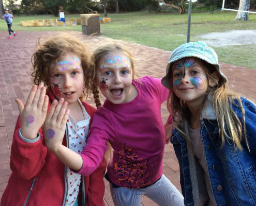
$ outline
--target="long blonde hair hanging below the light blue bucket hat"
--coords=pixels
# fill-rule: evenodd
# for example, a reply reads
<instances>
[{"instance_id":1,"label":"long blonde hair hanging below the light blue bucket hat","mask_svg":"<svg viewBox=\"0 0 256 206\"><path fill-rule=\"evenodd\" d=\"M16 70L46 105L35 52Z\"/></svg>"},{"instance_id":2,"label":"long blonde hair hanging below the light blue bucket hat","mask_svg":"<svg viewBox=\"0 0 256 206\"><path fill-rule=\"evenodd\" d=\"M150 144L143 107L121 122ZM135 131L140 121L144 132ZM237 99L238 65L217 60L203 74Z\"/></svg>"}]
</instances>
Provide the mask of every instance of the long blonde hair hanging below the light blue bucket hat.
<instances>
[{"instance_id":1,"label":"long blonde hair hanging below the light blue bucket hat","mask_svg":"<svg viewBox=\"0 0 256 206\"><path fill-rule=\"evenodd\" d=\"M212 76L210 76L210 74L217 70L215 66L213 66L212 64L209 64L201 59L198 60L200 60L201 62L208 83L209 78L213 78ZM172 65L170 66L170 72L168 74L170 82L172 82ZM247 148L249 149L245 127L245 110L242 106L240 95L229 90L228 84L224 81L222 76L220 76L219 80L217 81L216 87L209 90L209 94L213 95L213 108L218 122L221 147L223 147L225 141L227 141L229 143L233 143L236 149L239 148L240 150L243 150L241 141L243 138L245 138ZM235 101L237 101L238 104L236 104ZM191 125L191 112L187 107L186 102L179 99L175 95L174 91L170 90L167 105L168 111L173 114L175 128L180 133L182 133L184 138L186 138L186 134L184 132L185 124L183 119L186 119L189 125ZM242 112L241 120L233 111L232 105L238 107ZM203 108L203 106L204 104L202 104L201 109ZM228 127L228 132L225 130L225 125L227 125Z\"/></svg>"}]
</instances>

